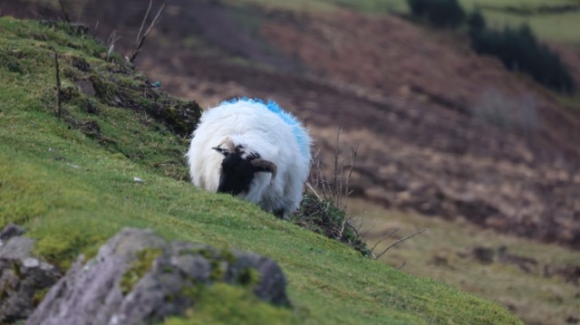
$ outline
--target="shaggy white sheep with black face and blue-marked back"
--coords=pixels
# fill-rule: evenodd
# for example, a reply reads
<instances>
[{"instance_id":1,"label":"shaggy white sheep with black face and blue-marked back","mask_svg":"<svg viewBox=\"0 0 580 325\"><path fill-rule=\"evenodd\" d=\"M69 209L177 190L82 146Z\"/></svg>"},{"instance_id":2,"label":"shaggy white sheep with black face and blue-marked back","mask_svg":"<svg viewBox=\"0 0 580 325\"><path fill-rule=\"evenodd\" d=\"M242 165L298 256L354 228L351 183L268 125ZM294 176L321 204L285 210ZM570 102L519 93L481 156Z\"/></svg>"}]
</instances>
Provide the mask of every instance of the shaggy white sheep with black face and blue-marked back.
<instances>
[{"instance_id":1,"label":"shaggy white sheep with black face and blue-marked back","mask_svg":"<svg viewBox=\"0 0 580 325\"><path fill-rule=\"evenodd\" d=\"M186 154L195 186L288 218L310 174L312 139L274 100L234 99L206 110Z\"/></svg>"}]
</instances>

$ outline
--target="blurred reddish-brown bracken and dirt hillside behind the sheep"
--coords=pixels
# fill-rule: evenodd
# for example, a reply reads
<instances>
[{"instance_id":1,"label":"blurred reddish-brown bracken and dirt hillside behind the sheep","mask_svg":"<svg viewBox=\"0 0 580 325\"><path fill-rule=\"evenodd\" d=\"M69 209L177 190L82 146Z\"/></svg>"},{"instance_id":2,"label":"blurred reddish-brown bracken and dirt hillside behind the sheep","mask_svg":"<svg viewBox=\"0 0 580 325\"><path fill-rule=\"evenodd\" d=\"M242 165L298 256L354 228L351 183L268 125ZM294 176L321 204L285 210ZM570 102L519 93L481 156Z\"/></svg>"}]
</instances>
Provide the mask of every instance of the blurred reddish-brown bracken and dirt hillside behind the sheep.
<instances>
[{"instance_id":1,"label":"blurred reddish-brown bracken and dirt hillside behind the sheep","mask_svg":"<svg viewBox=\"0 0 580 325\"><path fill-rule=\"evenodd\" d=\"M163 89L204 108L237 96L277 100L311 129L318 158L329 167L342 128L341 152L348 156L360 144L355 196L580 248L579 111L497 60L472 53L464 36L396 16L258 7L252 8L257 33L248 34L235 28L232 7L172 4L138 59ZM140 24L136 8L135 0L99 2L94 18L106 27L98 33L106 39L113 28L121 31L121 52L131 49ZM223 52L190 52L181 41L191 33ZM561 46L580 84L580 50L554 46ZM273 69L233 64L231 55ZM482 97L489 90L531 99L540 122L532 129L478 123L474 107L489 105Z\"/></svg>"}]
</instances>

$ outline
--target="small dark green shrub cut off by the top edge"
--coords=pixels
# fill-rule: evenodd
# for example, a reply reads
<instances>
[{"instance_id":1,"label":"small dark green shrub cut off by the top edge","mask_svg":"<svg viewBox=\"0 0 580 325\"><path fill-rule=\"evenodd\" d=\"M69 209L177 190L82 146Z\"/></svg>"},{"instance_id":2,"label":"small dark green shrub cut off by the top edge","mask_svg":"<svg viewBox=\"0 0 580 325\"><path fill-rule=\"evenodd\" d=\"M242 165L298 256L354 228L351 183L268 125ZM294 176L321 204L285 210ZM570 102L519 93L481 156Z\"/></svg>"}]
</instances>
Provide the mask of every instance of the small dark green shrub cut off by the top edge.
<instances>
[{"instance_id":1,"label":"small dark green shrub cut off by the top edge","mask_svg":"<svg viewBox=\"0 0 580 325\"><path fill-rule=\"evenodd\" d=\"M407 0L407 4L411 14L440 27L458 27L466 18L457 0Z\"/></svg>"}]
</instances>

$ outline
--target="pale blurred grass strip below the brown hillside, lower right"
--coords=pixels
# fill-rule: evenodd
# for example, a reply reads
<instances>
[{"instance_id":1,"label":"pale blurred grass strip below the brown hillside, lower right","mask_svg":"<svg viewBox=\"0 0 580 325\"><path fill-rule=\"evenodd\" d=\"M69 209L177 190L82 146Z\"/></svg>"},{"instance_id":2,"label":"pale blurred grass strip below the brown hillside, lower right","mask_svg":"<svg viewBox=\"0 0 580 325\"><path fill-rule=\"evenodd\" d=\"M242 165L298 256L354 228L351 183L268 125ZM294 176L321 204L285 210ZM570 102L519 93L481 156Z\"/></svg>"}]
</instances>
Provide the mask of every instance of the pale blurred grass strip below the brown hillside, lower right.
<instances>
[{"instance_id":1,"label":"pale blurred grass strip below the brown hillside, lower right","mask_svg":"<svg viewBox=\"0 0 580 325\"><path fill-rule=\"evenodd\" d=\"M350 215L363 218L362 230L369 244L375 244L382 234L401 228L375 249L381 252L388 244L416 229L425 233L395 246L382 256L382 261L394 267L404 265L404 272L429 276L467 292L472 292L510 306L527 323L566 324L568 317L578 317L580 288L559 276L544 276L544 265L552 268L579 265L580 253L555 244L540 244L506 234L482 230L465 221L449 222L436 217L385 211L358 200L349 200ZM514 264L480 263L462 257L473 247L497 250L507 247L507 253L533 257L538 265L524 272Z\"/></svg>"}]
</instances>

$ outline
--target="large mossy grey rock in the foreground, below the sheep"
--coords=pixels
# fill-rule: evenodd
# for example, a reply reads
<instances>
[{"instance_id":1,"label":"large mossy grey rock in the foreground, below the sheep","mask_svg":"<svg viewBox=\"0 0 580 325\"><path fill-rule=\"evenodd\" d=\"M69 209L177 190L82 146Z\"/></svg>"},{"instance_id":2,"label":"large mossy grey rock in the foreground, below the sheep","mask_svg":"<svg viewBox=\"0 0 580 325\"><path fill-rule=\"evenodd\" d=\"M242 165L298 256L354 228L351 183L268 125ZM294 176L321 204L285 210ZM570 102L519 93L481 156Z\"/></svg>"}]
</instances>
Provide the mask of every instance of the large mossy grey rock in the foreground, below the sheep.
<instances>
[{"instance_id":1,"label":"large mossy grey rock in the foreground, below the sheep","mask_svg":"<svg viewBox=\"0 0 580 325\"><path fill-rule=\"evenodd\" d=\"M259 273L253 277L252 274ZM195 301L187 290L227 282L251 288L276 305L289 303L285 275L254 253L205 244L168 243L148 230L123 229L96 257L80 257L57 282L27 324L141 324L179 315Z\"/></svg>"}]
</instances>

